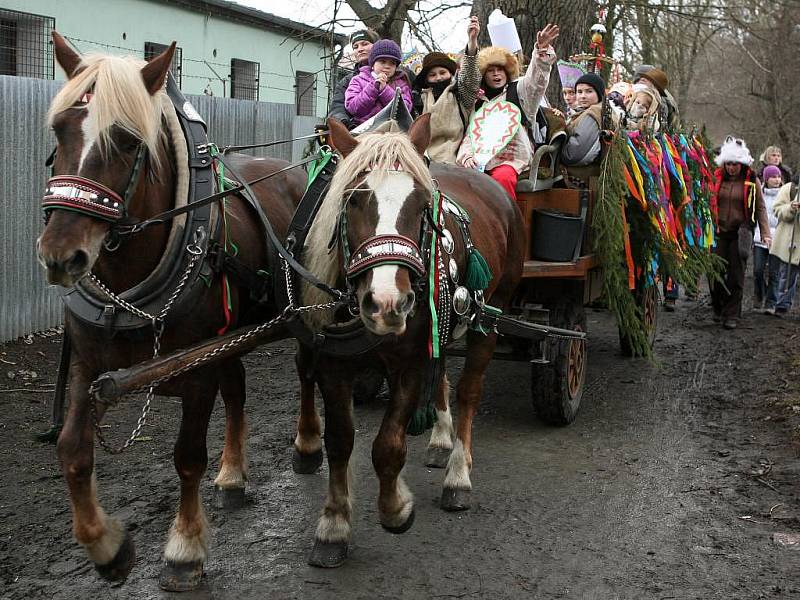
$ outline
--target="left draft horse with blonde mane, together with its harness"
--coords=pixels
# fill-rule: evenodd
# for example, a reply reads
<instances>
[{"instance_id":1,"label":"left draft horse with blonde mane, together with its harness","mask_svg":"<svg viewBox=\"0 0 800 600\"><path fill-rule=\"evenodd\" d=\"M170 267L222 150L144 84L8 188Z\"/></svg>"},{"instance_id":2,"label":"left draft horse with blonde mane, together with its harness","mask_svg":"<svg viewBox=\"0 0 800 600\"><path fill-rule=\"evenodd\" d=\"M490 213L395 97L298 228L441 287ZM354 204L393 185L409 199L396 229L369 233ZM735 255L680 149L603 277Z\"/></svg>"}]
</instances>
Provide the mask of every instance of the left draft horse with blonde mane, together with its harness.
<instances>
[{"instance_id":1,"label":"left draft horse with blonde mane, together with its harness","mask_svg":"<svg viewBox=\"0 0 800 600\"><path fill-rule=\"evenodd\" d=\"M198 148L189 147L188 134L182 130L188 126L178 120L177 111L187 112L188 103L173 104L165 92L175 44L145 63L103 55L82 57L55 32L53 41L68 81L49 113L57 148L54 177L43 203L46 226L37 243L48 282L70 288L67 295L83 290L114 316L125 312L126 291L153 288L148 284L153 274L163 273L164 265L178 256L174 276L160 288L165 291L150 293L163 303L152 309L152 321L153 334L160 336L164 351L277 314L274 305L251 298L252 287L229 271L226 265L230 263L212 260L215 252L221 256L221 250L235 243L240 271L256 273L268 264L270 247L254 214L257 211L239 196L229 196L224 205L214 204L199 225L195 214L181 215L171 227L156 225L121 241L114 237L118 221L143 221L181 201L185 204L192 178L200 178L189 173L209 161L207 154L198 155ZM240 155L226 161L248 180L286 165ZM213 186L210 171L204 177ZM261 210L283 235L305 189L305 175L296 170L282 172L252 188ZM189 242L183 243L187 232ZM135 562L134 544L124 524L107 515L97 499L94 436L100 434L106 407L90 396L89 384L103 372L149 359L153 337L146 318L144 327L120 331L115 330L116 321L108 328L97 327L73 314L69 306L65 321L73 347L69 411L58 439L58 455L69 487L73 532L104 578L123 581ZM182 400L174 453L180 503L160 577L164 589L181 591L200 583L207 557L208 526L200 482L208 462L206 432L217 391L225 401L226 431L215 485L223 499L228 493L243 496L247 480L244 369L239 358L233 358L178 377L155 391Z\"/></svg>"}]
</instances>

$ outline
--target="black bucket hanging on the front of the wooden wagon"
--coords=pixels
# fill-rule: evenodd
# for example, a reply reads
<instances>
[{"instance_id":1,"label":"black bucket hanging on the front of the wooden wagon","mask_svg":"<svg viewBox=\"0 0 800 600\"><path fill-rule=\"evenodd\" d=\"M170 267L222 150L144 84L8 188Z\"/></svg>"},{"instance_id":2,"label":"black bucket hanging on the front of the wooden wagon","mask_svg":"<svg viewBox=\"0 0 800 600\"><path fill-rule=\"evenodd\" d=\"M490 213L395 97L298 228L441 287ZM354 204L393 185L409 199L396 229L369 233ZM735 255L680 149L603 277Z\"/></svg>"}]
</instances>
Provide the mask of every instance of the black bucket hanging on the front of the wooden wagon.
<instances>
[{"instance_id":1,"label":"black bucket hanging on the front of the wooden wagon","mask_svg":"<svg viewBox=\"0 0 800 600\"><path fill-rule=\"evenodd\" d=\"M553 210L533 209L531 256L536 260L575 260L583 237L583 219Z\"/></svg>"}]
</instances>

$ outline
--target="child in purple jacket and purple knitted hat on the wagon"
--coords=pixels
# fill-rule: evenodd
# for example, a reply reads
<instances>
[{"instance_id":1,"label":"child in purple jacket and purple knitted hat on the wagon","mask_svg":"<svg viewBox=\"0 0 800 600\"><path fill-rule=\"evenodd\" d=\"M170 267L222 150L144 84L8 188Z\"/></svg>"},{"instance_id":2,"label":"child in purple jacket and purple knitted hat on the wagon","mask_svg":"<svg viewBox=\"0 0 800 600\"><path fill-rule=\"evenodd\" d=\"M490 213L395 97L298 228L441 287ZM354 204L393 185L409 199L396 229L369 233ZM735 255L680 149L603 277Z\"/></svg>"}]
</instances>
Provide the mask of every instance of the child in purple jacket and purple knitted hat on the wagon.
<instances>
[{"instance_id":1,"label":"child in purple jacket and purple knitted hat on the wagon","mask_svg":"<svg viewBox=\"0 0 800 600\"><path fill-rule=\"evenodd\" d=\"M394 99L398 88L411 111L411 85L405 72L398 68L402 59L400 46L392 40L378 40L372 45L369 64L350 80L344 95L344 106L353 116L353 125L377 115Z\"/></svg>"}]
</instances>

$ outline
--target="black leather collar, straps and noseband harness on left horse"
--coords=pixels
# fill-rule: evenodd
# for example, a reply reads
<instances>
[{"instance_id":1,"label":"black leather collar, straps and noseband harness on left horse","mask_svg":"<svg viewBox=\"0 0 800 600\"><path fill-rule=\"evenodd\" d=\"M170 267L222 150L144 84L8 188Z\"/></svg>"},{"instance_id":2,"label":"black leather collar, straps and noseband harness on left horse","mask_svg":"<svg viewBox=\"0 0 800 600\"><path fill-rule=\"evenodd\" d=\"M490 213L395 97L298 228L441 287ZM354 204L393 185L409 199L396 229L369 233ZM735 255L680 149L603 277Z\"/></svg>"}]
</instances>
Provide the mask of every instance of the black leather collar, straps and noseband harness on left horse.
<instances>
[{"instance_id":1,"label":"black leather collar, straps and noseband harness on left horse","mask_svg":"<svg viewBox=\"0 0 800 600\"><path fill-rule=\"evenodd\" d=\"M110 222L111 229L104 243L108 251L116 250L127 236L148 225L166 223L179 214L186 214L186 222L178 234L173 236L165 257L156 270L140 284L117 295L112 294L90 274L88 279L92 283L81 280L73 288L60 288L59 293L67 310L81 322L103 328L109 337L119 333L144 337L147 334L146 328L152 326L155 318L163 320L166 316L163 314L163 307L167 305L172 309L171 317L178 312L191 310L196 297L217 274L229 276L238 285L249 289L254 301L264 303L272 291L272 281L266 274L277 272L277 260L273 252L270 252L267 268L255 271L227 250L222 240L222 219L215 214L213 202L233 193L244 198L258 216L268 238L266 245L270 251L275 243L280 242L272 232L269 220L249 184L243 179L239 178L242 183L234 189L214 193L215 160L222 163L231 174L235 175L236 172L222 156L215 155L214 145L208 142L205 123L184 98L171 76L167 80L166 93L176 109L189 153L189 198L185 206L139 223L128 215L128 204L147 159L144 144L139 146L122 195L100 182L63 175L48 180L42 199L45 222L51 211L57 209ZM52 164L54 156L55 150L48 159L48 165ZM277 173L270 176L274 174ZM181 288L179 290L175 289L176 281ZM177 295L175 292L178 292ZM161 327L163 328L163 323Z\"/></svg>"}]
</instances>

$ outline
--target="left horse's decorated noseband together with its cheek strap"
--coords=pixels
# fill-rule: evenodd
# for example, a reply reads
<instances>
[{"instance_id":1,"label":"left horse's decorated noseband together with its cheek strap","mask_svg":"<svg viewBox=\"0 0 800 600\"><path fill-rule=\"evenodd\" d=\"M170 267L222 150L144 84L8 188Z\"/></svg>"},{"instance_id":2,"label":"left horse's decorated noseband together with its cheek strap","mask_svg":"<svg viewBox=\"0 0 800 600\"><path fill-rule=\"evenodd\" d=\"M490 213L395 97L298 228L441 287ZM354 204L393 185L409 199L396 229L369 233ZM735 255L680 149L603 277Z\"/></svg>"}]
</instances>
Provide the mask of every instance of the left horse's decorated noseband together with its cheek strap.
<instances>
[{"instance_id":1,"label":"left horse's decorated noseband together with its cheek strap","mask_svg":"<svg viewBox=\"0 0 800 600\"><path fill-rule=\"evenodd\" d=\"M56 175L48 179L42 198L45 222L52 210L69 210L111 223L125 219L146 154L144 144L140 144L123 196L99 181L78 175Z\"/></svg>"}]
</instances>

